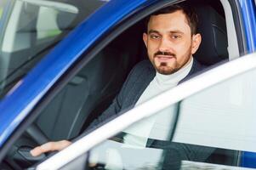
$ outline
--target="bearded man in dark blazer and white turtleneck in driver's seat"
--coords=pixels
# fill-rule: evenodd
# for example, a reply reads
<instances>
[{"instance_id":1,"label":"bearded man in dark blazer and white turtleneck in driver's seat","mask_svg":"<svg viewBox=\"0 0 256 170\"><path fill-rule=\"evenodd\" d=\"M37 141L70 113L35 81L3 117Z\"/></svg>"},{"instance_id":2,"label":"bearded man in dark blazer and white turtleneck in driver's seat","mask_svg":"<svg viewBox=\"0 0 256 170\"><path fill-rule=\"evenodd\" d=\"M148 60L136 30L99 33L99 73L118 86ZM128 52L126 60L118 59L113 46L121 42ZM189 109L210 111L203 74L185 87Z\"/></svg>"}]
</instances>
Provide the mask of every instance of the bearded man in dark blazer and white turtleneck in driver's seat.
<instances>
[{"instance_id":1,"label":"bearded man in dark blazer and white turtleneck in driver's seat","mask_svg":"<svg viewBox=\"0 0 256 170\"><path fill-rule=\"evenodd\" d=\"M173 88L191 74L202 70L202 65L192 57L202 39L201 35L196 33L196 23L196 14L185 5L173 5L152 14L148 19L147 32L143 34L150 61L142 61L134 67L116 99L97 120L91 123L90 127L128 107L151 99L162 91ZM44 152L62 150L69 144L71 142L67 140L49 142L31 150L31 155L38 156ZM176 148L184 149L183 146L178 144L172 147L177 150ZM196 155L197 152L201 153L201 148L196 146L192 149L188 148L185 150L190 154L178 153L180 160L206 159L213 151L203 150L206 153L201 157L200 154ZM171 155L174 153L172 152ZM177 153L175 157L179 157Z\"/></svg>"}]
</instances>

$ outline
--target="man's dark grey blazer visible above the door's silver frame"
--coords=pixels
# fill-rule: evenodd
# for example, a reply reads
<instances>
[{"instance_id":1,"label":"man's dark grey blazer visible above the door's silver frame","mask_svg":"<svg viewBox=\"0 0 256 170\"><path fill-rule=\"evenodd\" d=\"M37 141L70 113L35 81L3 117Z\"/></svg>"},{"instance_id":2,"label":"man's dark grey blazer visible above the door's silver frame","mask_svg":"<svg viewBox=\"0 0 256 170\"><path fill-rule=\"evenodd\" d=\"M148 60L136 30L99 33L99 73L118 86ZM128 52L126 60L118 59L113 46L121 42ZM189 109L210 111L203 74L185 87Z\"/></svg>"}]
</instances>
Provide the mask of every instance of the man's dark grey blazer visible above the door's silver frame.
<instances>
[{"instance_id":1,"label":"man's dark grey blazer visible above the door's silver frame","mask_svg":"<svg viewBox=\"0 0 256 170\"><path fill-rule=\"evenodd\" d=\"M191 71L181 82L194 76L196 72L202 71L204 68L203 65L194 59ZM145 88L147 88L155 76L156 70L153 65L151 65L150 60L143 60L135 65L112 104L101 114L101 116L92 122L89 127L94 127L117 113L128 111L133 108L140 95L145 91Z\"/></svg>"}]
</instances>

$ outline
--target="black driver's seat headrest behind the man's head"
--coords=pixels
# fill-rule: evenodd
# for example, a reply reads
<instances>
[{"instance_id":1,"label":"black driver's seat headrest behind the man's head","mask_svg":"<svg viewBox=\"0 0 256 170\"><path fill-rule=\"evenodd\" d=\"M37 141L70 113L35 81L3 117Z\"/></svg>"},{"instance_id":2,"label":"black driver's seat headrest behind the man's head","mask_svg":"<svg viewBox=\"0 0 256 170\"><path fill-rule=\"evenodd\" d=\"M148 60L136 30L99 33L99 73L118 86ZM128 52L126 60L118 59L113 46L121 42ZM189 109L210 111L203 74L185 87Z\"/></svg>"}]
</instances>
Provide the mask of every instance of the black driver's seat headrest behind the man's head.
<instances>
[{"instance_id":1,"label":"black driver's seat headrest behind the man's head","mask_svg":"<svg viewBox=\"0 0 256 170\"><path fill-rule=\"evenodd\" d=\"M196 5L198 15L198 32L202 42L194 58L202 65L213 65L220 60L228 59L228 41L225 19L209 5Z\"/></svg>"}]
</instances>

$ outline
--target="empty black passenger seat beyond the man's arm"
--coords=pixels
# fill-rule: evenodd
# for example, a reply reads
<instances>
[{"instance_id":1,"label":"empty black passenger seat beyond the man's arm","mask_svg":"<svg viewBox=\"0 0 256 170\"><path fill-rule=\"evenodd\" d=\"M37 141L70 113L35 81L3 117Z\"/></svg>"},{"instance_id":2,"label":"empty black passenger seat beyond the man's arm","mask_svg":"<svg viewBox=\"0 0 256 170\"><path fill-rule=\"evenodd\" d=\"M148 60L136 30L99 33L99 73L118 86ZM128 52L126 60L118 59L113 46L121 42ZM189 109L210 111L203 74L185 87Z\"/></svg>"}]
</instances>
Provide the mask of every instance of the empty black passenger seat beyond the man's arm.
<instances>
[{"instance_id":1,"label":"empty black passenger seat beyond the man's arm","mask_svg":"<svg viewBox=\"0 0 256 170\"><path fill-rule=\"evenodd\" d=\"M140 32L134 29L125 31L89 61L37 118L37 127L48 139L76 137L111 104L138 61L139 42L131 39Z\"/></svg>"}]
</instances>

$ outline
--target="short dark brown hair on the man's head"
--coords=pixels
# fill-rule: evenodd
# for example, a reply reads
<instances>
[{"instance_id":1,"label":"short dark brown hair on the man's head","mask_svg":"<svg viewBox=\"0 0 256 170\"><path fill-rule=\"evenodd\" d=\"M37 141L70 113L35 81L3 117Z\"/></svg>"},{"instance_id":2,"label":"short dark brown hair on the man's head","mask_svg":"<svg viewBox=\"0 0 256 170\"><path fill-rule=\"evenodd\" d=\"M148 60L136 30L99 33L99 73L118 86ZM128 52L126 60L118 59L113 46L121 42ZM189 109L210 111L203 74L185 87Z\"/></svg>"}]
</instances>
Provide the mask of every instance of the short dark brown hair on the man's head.
<instances>
[{"instance_id":1,"label":"short dark brown hair on the man's head","mask_svg":"<svg viewBox=\"0 0 256 170\"><path fill-rule=\"evenodd\" d=\"M191 34L194 35L197 33L197 25L198 25L198 17L196 14L196 11L194 8L191 7L189 3L179 3L170 5L165 8L161 8L160 10L156 11L155 13L151 14L149 17L146 18L146 28L148 26L148 23L151 19L152 15L158 15L158 14L171 14L178 10L182 10L185 14L185 17L189 23L189 26L191 27Z\"/></svg>"}]
</instances>

